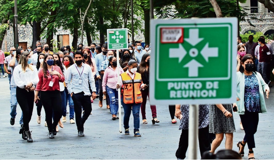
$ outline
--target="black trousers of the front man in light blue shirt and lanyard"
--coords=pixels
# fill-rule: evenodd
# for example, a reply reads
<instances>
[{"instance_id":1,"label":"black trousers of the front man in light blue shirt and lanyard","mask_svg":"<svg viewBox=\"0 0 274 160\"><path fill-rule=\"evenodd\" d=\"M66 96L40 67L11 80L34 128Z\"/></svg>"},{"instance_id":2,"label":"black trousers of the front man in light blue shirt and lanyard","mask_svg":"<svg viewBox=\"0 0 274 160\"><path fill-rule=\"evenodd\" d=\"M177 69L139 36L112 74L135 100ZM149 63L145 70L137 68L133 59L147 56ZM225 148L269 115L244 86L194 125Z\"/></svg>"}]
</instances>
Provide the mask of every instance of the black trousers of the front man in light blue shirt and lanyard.
<instances>
[{"instance_id":1,"label":"black trousers of the front man in light blue shirt and lanyard","mask_svg":"<svg viewBox=\"0 0 274 160\"><path fill-rule=\"evenodd\" d=\"M77 129L78 131L84 131L84 123L89 117L90 112L92 111L90 96L85 96L84 92L76 94L73 93L72 100L74 103L75 121ZM82 107L85 112L81 117Z\"/></svg>"}]
</instances>

